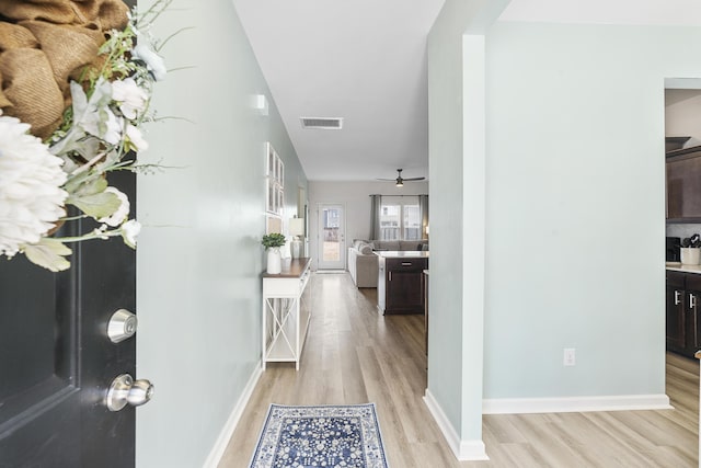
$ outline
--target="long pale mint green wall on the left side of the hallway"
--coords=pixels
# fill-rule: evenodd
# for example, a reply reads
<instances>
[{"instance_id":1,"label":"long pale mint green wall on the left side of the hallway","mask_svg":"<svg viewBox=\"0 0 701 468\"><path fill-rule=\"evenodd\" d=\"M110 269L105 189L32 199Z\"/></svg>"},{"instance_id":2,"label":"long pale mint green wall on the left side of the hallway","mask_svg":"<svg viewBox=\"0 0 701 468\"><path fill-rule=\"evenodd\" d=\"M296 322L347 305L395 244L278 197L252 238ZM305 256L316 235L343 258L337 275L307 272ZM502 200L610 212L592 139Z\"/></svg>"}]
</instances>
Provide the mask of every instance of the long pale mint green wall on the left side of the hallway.
<instances>
[{"instance_id":1,"label":"long pale mint green wall on the left side of the hallway","mask_svg":"<svg viewBox=\"0 0 701 468\"><path fill-rule=\"evenodd\" d=\"M271 93L233 4L175 0L156 33L189 26L162 53L193 68L158 83L154 105L192 122L151 125L140 155L173 167L138 178L137 364L156 385L137 411L143 468L202 466L260 362L265 141L285 162L286 216L307 185L274 103L252 107Z\"/></svg>"}]
</instances>

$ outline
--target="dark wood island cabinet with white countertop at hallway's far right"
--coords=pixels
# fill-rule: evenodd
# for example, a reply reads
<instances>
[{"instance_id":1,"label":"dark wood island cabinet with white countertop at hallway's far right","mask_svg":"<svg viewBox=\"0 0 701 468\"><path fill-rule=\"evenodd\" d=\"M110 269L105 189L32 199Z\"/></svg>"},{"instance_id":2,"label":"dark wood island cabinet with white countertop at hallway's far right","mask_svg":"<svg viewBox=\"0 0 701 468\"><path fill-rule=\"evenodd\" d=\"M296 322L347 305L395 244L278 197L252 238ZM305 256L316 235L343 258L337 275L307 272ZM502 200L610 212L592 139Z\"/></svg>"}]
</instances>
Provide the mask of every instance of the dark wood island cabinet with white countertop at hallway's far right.
<instances>
[{"instance_id":1,"label":"dark wood island cabinet with white countertop at hallway's far right","mask_svg":"<svg viewBox=\"0 0 701 468\"><path fill-rule=\"evenodd\" d=\"M379 255L377 294L381 312L424 312L423 272L428 269L426 255L426 252L383 252Z\"/></svg>"}]
</instances>

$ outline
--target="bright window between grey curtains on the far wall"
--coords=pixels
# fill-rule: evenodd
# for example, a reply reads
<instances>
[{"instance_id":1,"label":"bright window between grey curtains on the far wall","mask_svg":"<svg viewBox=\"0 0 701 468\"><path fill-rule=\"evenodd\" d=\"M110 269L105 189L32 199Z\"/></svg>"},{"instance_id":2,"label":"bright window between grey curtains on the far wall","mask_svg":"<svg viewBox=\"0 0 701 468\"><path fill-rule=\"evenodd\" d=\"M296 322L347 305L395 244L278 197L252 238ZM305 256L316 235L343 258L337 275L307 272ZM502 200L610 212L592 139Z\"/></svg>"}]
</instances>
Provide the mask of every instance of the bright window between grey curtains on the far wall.
<instances>
[{"instance_id":1,"label":"bright window between grey curtains on the far wall","mask_svg":"<svg viewBox=\"0 0 701 468\"><path fill-rule=\"evenodd\" d=\"M380 240L420 240L418 196L383 196L380 205Z\"/></svg>"}]
</instances>

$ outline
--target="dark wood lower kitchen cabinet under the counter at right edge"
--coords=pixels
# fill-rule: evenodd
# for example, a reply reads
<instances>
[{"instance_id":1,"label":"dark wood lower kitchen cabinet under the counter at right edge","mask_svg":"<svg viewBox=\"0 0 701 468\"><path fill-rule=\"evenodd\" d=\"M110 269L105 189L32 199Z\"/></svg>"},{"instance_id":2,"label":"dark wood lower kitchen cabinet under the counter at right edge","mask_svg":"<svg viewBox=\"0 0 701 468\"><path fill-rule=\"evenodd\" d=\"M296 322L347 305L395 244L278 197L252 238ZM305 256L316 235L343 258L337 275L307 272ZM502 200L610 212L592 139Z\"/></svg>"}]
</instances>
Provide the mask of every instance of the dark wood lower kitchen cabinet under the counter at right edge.
<instances>
[{"instance_id":1,"label":"dark wood lower kitchen cabinet under the counter at right edge","mask_svg":"<svg viewBox=\"0 0 701 468\"><path fill-rule=\"evenodd\" d=\"M693 357L701 350L701 274L667 271L667 350Z\"/></svg>"}]
</instances>

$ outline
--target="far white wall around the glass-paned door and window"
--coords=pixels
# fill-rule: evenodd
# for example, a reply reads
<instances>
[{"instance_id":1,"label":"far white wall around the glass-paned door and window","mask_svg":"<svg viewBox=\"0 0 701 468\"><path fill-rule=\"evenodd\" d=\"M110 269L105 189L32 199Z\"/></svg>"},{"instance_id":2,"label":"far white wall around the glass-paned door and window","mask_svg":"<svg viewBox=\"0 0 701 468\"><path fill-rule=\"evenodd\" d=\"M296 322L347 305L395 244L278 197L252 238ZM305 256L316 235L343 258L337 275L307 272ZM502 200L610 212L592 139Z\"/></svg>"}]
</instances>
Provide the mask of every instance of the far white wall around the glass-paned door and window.
<instances>
[{"instance_id":1,"label":"far white wall around the glass-paned door and window","mask_svg":"<svg viewBox=\"0 0 701 468\"><path fill-rule=\"evenodd\" d=\"M320 203L338 203L345 207L345 248L347 248L353 239L368 239L370 236L370 195L423 195L427 193L428 181L406 182L403 187L395 186L393 182L309 181L309 232L311 232L309 251L313 259L312 267L317 269L319 259L317 207Z\"/></svg>"}]
</instances>

